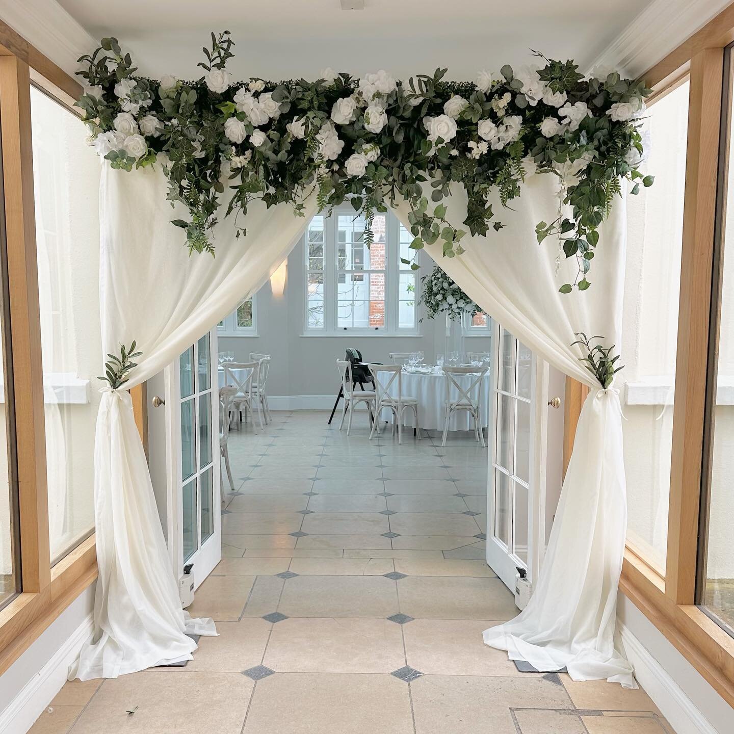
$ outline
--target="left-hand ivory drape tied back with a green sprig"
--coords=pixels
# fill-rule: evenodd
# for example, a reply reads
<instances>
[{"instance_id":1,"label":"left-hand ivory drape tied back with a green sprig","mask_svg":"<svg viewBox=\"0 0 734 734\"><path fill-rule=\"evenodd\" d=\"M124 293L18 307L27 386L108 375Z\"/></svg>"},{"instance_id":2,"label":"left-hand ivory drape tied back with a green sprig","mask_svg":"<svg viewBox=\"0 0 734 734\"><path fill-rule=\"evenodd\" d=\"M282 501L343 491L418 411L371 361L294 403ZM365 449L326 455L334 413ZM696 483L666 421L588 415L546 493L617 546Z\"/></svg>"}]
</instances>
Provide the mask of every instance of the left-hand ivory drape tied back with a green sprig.
<instances>
[{"instance_id":1,"label":"left-hand ivory drape tied back with a green sprig","mask_svg":"<svg viewBox=\"0 0 734 734\"><path fill-rule=\"evenodd\" d=\"M180 205L153 168L125 172L103 161L100 189L104 351L137 341L142 352L125 390L104 390L95 442L98 584L94 632L69 677L117 677L192 658L186 633L216 634L211 619L181 609L128 388L152 377L262 286L315 211L252 203L246 222L219 217L216 256L189 257ZM225 202L226 206L226 202ZM236 224L247 233L236 237Z\"/></svg>"}]
</instances>

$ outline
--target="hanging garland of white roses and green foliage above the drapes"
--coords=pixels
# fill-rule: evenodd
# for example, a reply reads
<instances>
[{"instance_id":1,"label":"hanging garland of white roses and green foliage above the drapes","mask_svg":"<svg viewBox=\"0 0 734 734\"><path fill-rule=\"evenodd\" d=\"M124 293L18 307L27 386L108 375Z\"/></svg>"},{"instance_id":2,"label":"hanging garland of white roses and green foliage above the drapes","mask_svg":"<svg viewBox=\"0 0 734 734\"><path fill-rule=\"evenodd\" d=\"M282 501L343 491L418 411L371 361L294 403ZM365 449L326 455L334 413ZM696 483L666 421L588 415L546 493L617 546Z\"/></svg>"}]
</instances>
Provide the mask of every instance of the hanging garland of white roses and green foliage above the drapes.
<instances>
[{"instance_id":1,"label":"hanging garland of white roses and green foliage above the drapes","mask_svg":"<svg viewBox=\"0 0 734 734\"><path fill-rule=\"evenodd\" d=\"M567 205L556 221L539 222L538 239L562 236L578 277L561 290L583 290L620 178L635 193L639 182L652 183L634 162L642 156L635 119L649 90L617 73L584 79L573 62L537 54L539 70L504 66L482 71L476 84L445 81L445 69L401 82L385 71L352 79L324 70L317 81L244 83L225 68L232 47L229 32L211 34L200 63L206 75L196 81L137 76L114 38L79 59L88 86L78 104L93 144L115 168L161 164L168 199L189 210L189 220L173 224L186 230L190 252L214 252L208 230L228 187L227 214L247 214L256 198L302 214L303 198L315 191L322 210L349 199L368 228L373 211L403 198L413 250L441 241L443 254L454 257L466 232L446 219L451 183L468 195L462 224L485 235L502 227L487 203L490 191L496 187L505 205L537 170L562 178Z\"/></svg>"}]
</instances>

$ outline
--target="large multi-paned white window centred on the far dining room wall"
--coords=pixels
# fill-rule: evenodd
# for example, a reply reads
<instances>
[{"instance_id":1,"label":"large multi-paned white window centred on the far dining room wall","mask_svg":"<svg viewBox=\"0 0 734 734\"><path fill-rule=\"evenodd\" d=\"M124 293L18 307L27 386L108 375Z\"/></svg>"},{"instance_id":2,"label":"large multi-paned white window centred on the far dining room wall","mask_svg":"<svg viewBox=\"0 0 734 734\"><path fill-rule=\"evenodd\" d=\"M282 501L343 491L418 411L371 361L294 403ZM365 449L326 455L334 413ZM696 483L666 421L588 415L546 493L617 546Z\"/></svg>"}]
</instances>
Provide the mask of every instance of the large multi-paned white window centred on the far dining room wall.
<instances>
[{"instance_id":1,"label":"large multi-paned white window centred on the far dining room wall","mask_svg":"<svg viewBox=\"0 0 734 734\"><path fill-rule=\"evenodd\" d=\"M375 213L367 247L365 219L349 207L317 214L305 234L305 333L418 332L413 237L390 212Z\"/></svg>"}]
</instances>

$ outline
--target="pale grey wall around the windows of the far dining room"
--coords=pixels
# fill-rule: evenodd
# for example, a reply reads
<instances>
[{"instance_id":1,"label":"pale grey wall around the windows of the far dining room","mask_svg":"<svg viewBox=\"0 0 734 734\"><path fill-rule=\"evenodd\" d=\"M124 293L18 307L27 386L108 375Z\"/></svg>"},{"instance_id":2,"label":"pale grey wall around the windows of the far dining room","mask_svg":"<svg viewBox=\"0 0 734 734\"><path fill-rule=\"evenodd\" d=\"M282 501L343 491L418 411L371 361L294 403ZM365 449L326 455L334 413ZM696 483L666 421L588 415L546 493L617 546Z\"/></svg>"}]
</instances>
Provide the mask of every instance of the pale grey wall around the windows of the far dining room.
<instances>
[{"instance_id":1,"label":"pale grey wall around the windows of the far dining room","mask_svg":"<svg viewBox=\"0 0 734 734\"><path fill-rule=\"evenodd\" d=\"M346 334L337 337L302 336L305 323L305 244L294 247L288 257L288 280L282 297L274 297L266 283L256 297L257 337L220 336L219 352L234 352L244 361L250 352L271 355L268 394L270 396L334 395L338 390L335 360L344 359L344 350L359 349L366 360L388 362L390 352L424 352L426 363L436 352L445 351L445 322L424 319L418 324L421 335L365 337ZM418 275L431 272L433 261L424 253ZM423 317L419 307L418 318ZM465 349L484 352L490 338L468 337Z\"/></svg>"}]
</instances>

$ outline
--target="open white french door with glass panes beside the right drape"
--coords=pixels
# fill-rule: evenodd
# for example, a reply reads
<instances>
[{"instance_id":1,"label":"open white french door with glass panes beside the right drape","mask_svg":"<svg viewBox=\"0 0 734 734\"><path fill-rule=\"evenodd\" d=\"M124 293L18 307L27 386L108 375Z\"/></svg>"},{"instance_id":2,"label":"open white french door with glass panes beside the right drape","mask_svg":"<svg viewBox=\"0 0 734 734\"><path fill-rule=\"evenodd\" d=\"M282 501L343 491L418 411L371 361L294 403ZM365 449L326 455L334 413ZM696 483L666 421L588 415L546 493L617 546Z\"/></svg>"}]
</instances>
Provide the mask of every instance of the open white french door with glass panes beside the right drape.
<instances>
[{"instance_id":1,"label":"open white french door with glass panes beside the right drape","mask_svg":"<svg viewBox=\"0 0 734 734\"><path fill-rule=\"evenodd\" d=\"M487 563L514 592L518 569L534 583L545 553L561 481L556 448L563 414L554 410L559 396L549 400L548 363L500 324L494 328ZM553 370L554 390L563 385L559 378Z\"/></svg>"}]
</instances>

